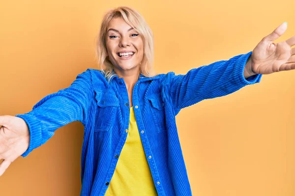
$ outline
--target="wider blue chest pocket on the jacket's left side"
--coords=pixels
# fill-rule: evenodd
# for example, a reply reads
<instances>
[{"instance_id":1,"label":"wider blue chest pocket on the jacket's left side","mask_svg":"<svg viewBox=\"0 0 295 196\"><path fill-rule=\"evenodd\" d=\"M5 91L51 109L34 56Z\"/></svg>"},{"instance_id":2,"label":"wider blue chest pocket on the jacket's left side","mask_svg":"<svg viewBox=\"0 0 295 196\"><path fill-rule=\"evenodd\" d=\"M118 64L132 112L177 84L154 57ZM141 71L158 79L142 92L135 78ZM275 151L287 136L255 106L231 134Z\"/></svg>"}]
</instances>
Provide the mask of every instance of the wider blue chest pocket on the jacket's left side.
<instances>
[{"instance_id":1,"label":"wider blue chest pocket on the jacket's left side","mask_svg":"<svg viewBox=\"0 0 295 196\"><path fill-rule=\"evenodd\" d=\"M109 131L119 106L119 100L113 91L96 91L97 103L95 114L95 131Z\"/></svg>"}]
</instances>

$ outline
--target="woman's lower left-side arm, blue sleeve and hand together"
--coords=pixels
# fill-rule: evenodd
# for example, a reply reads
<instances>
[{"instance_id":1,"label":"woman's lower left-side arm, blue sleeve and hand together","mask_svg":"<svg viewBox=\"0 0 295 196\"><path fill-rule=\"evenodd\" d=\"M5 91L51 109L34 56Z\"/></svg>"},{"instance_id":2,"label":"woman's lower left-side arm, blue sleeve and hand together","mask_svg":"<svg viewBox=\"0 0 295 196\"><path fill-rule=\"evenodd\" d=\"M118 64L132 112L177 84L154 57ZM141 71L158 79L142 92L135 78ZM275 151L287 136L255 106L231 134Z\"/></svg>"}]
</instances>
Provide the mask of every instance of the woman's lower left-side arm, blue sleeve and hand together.
<instances>
[{"instance_id":1,"label":"woman's lower left-side arm, blue sleeve and hand together","mask_svg":"<svg viewBox=\"0 0 295 196\"><path fill-rule=\"evenodd\" d=\"M70 87L42 98L32 111L0 116L0 176L15 159L44 144L59 127L73 121L88 122L94 95L91 84L87 70Z\"/></svg>"}]
</instances>

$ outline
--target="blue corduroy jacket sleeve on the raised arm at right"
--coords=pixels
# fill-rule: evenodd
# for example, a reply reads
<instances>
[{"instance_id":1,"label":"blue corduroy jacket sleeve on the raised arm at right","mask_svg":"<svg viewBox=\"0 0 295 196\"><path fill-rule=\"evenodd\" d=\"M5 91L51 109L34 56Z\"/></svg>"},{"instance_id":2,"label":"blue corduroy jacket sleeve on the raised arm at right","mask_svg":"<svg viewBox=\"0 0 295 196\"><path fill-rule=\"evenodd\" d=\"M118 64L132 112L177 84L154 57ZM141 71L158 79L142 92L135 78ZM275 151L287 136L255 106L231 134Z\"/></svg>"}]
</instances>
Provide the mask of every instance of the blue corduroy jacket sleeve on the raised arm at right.
<instances>
[{"instance_id":1,"label":"blue corduroy jacket sleeve on the raised arm at right","mask_svg":"<svg viewBox=\"0 0 295 196\"><path fill-rule=\"evenodd\" d=\"M210 65L192 69L186 74L170 74L170 96L176 114L181 108L201 100L222 97L240 88L259 83L262 74L245 79L244 67L252 51L237 55L229 60L217 61Z\"/></svg>"}]
</instances>

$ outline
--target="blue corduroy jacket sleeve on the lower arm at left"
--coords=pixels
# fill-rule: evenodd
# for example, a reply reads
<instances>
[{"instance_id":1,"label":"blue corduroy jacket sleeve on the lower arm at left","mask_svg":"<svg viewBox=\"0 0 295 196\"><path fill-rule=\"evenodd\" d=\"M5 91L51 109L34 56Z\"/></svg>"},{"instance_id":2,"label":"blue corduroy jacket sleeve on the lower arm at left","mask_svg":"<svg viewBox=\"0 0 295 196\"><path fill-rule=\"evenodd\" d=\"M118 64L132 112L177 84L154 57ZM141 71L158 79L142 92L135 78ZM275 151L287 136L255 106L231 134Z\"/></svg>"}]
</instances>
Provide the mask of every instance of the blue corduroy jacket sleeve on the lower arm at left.
<instances>
[{"instance_id":1,"label":"blue corduroy jacket sleeve on the lower arm at left","mask_svg":"<svg viewBox=\"0 0 295 196\"><path fill-rule=\"evenodd\" d=\"M88 69L80 73L68 88L42 98L30 112L16 115L29 127L29 148L22 154L23 157L46 143L59 127L73 121L80 121L83 125L88 122L89 107L94 95L91 85Z\"/></svg>"}]
</instances>

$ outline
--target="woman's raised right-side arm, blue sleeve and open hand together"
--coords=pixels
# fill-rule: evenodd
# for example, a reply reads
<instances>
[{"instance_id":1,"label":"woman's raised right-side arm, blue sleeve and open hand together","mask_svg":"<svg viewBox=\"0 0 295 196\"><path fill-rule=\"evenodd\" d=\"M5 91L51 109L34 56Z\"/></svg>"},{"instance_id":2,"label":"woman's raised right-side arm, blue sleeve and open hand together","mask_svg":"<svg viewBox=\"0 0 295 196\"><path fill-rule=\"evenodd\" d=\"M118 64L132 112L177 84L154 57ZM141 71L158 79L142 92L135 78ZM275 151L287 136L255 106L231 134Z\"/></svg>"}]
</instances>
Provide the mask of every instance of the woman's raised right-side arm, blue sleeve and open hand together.
<instances>
[{"instance_id":1,"label":"woman's raised right-side arm, blue sleeve and open hand together","mask_svg":"<svg viewBox=\"0 0 295 196\"><path fill-rule=\"evenodd\" d=\"M295 49L291 49L295 36L273 43L286 29L287 23L279 25L247 54L190 70L185 75L168 74L176 114L203 99L225 96L245 85L258 83L262 74L295 69Z\"/></svg>"}]
</instances>

